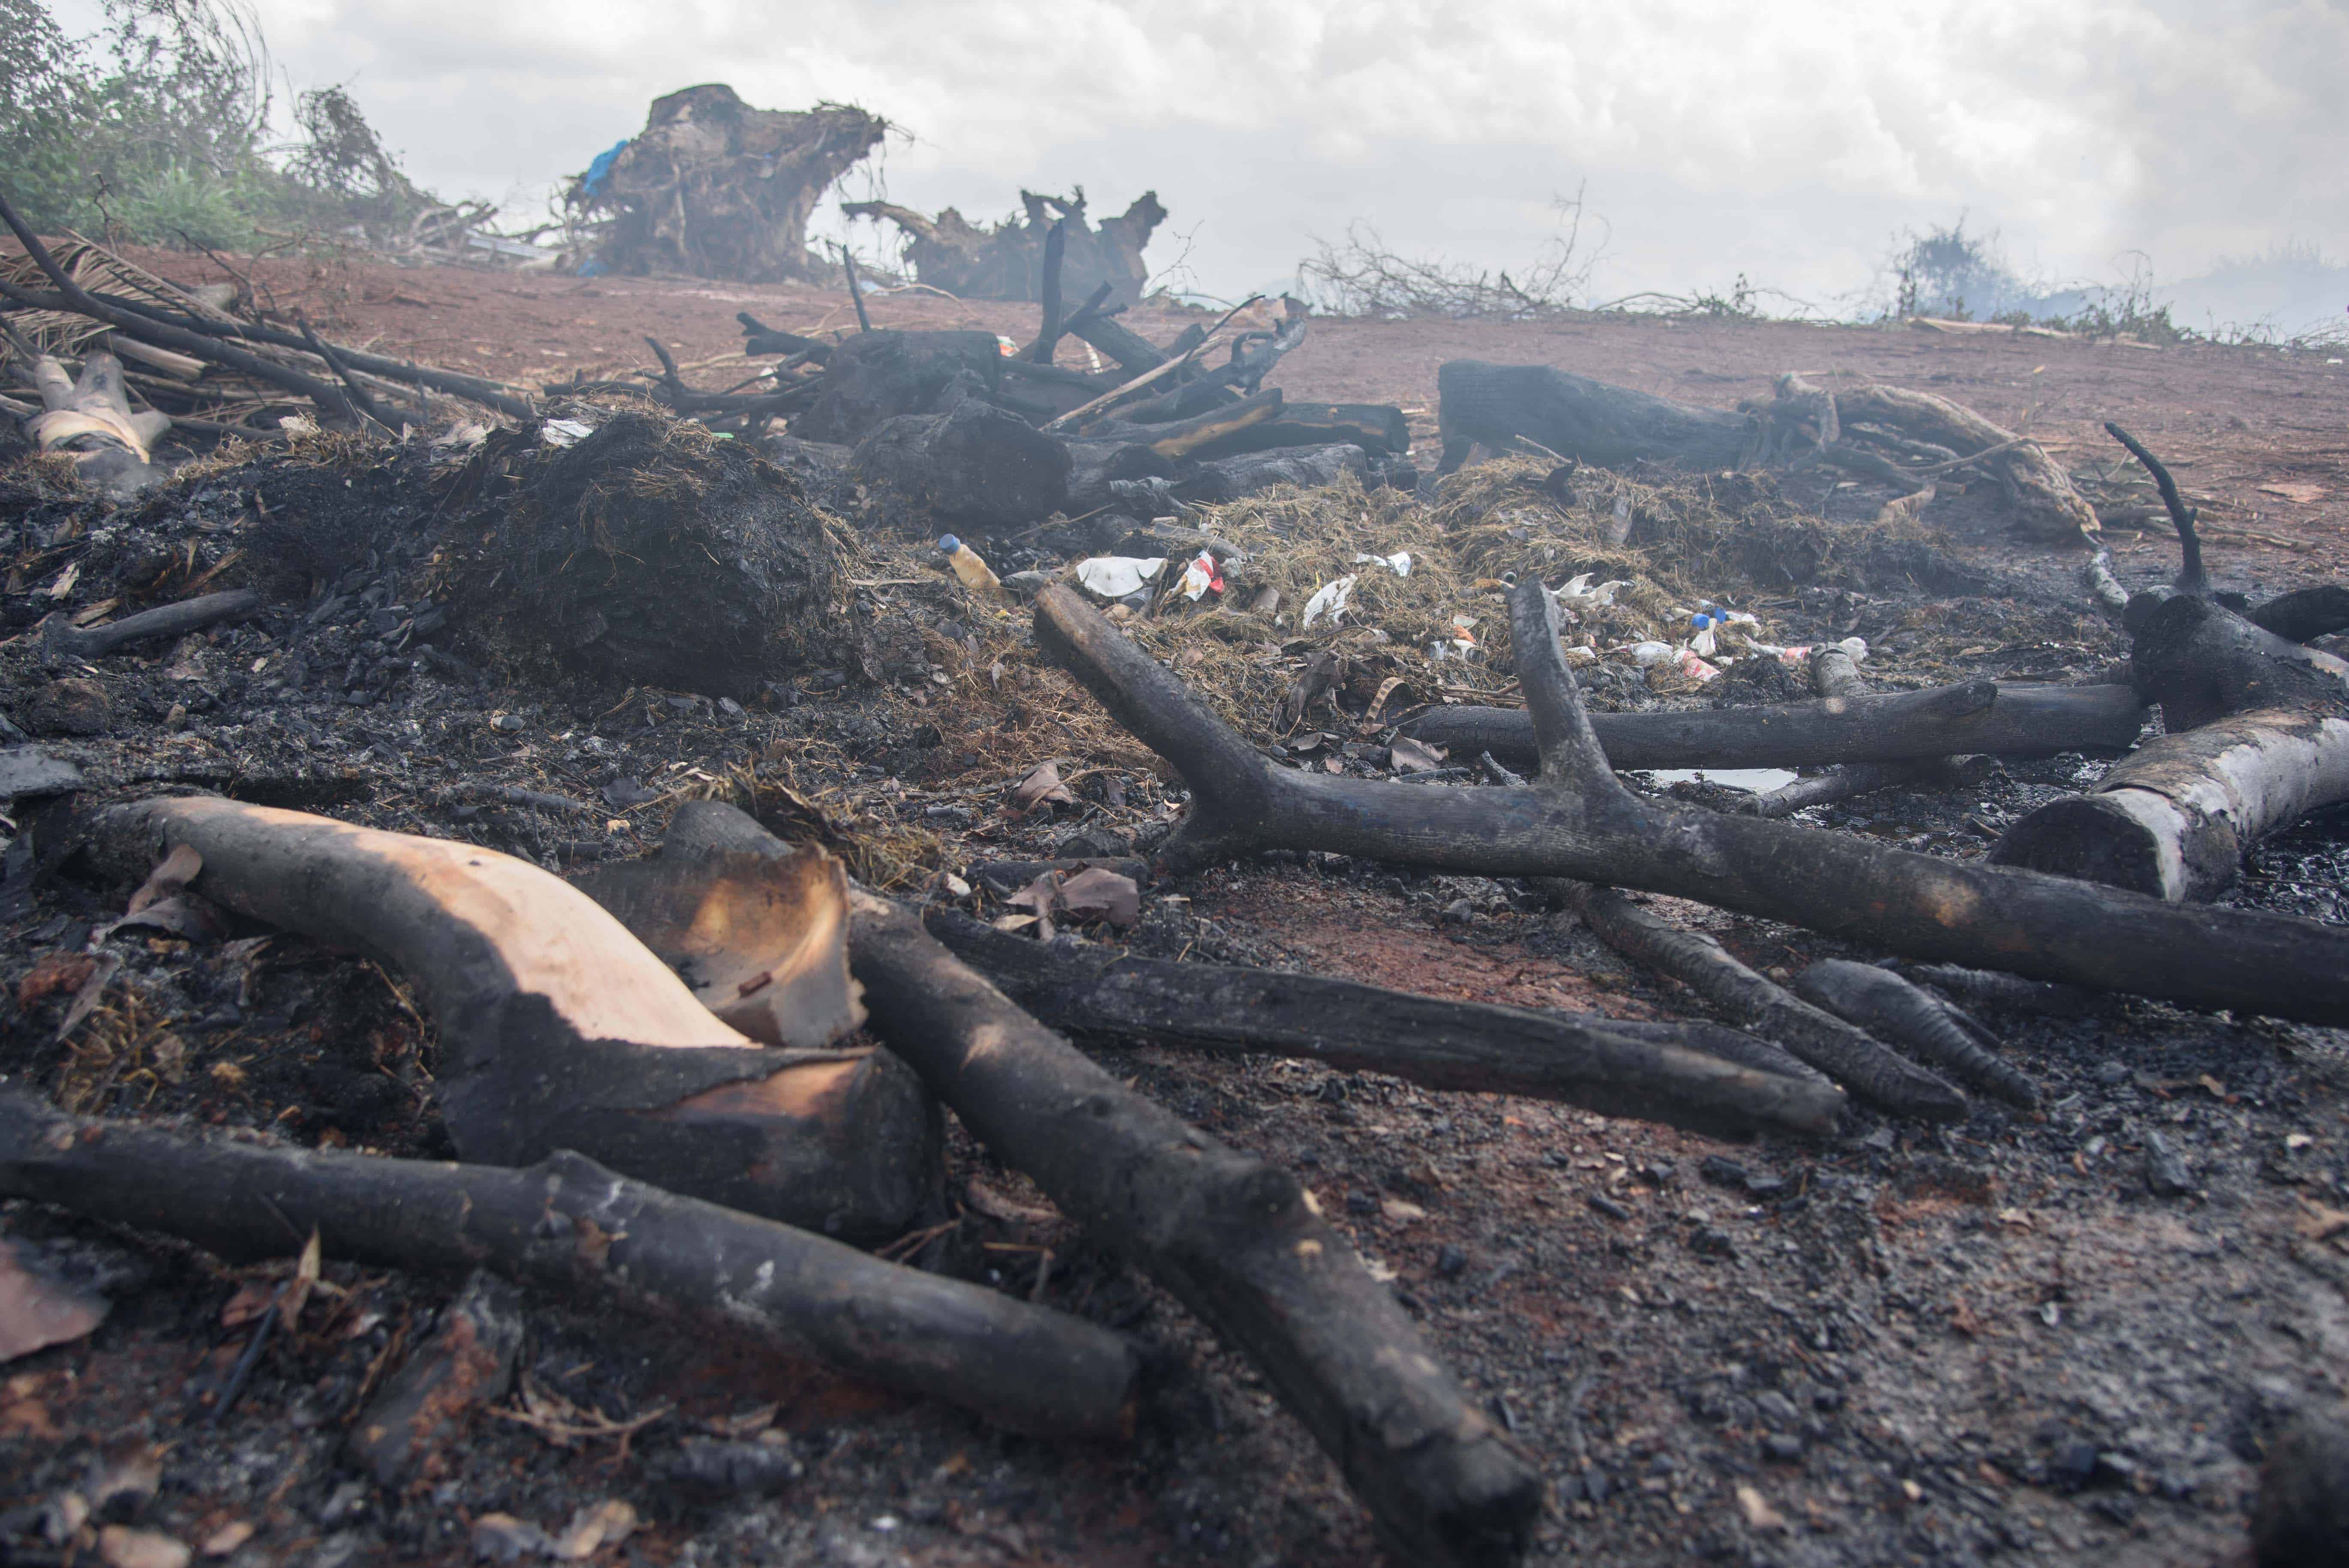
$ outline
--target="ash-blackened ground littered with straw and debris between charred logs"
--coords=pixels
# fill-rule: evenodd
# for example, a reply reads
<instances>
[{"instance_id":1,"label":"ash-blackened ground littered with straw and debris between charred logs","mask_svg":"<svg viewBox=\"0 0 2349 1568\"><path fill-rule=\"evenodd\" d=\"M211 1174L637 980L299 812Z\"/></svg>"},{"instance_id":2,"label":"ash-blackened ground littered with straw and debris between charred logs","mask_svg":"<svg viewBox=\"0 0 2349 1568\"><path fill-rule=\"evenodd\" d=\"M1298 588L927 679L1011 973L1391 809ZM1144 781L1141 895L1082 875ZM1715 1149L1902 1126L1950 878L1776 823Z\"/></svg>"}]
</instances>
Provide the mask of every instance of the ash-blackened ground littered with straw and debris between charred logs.
<instances>
[{"instance_id":1,"label":"ash-blackened ground littered with straw and debris between charred logs","mask_svg":"<svg viewBox=\"0 0 2349 1568\"><path fill-rule=\"evenodd\" d=\"M519 526L512 498L552 472L538 432L521 434L503 448L418 434L406 448L226 455L127 505L14 469L0 498L0 711L85 784L14 810L0 1073L85 1115L451 1153L437 1038L409 976L237 925L195 941L122 930L87 951L129 892L70 852L73 815L106 800L216 791L564 871L641 854L679 800L719 796L914 901L954 899L951 878L989 859L1149 852L1182 812L1179 782L1036 655L1022 608L965 594L923 535L883 530L853 486L822 474L759 479L792 486L829 540L801 582L808 620L787 671L630 681L561 657L538 627L552 610L491 582L491 530ZM688 458L752 462L712 458L707 441ZM1189 519L1247 545L1257 577L1287 589L1290 620L1203 608L1135 631L1287 763L1372 777L1391 761L1391 725L1369 716L1388 681L1400 697L1388 692L1381 721L1405 702L1508 697L1496 575L1517 559L1635 584L1616 620L1593 620L1602 646L1715 596L1783 646L1867 638L1865 674L1886 690L2081 681L2126 653L2077 589L2077 556L2008 549L1987 495L1945 502L1931 528L1884 530L1870 521L1882 493L1828 479L1633 474L1557 505L1532 484L1539 465L1510 472L1468 469L1426 502L1276 493ZM1635 526L1609 554L1595 540L1618 495ZM980 545L1012 573L1123 538L1125 523L1092 519ZM1297 584L1398 549L1416 570L1369 568L1346 627L1297 627ZM2229 582L2225 556L2217 568L2222 587L2293 584ZM265 608L176 646L75 662L38 634L54 613L103 624L235 584ZM1470 657L1452 629L1478 646ZM1431 660L1431 641L1449 657ZM1292 683L1332 650L1346 678L1285 723ZM1597 707L1788 695L1764 664L1698 685L1623 660L1600 660L1586 690ZM1012 786L1048 758L1073 800L1015 810ZM1964 793L1867 796L1806 822L1980 854L2100 768L2008 761ZM2344 864L2349 815L2311 819L2264 845L2232 897L2340 920ZM998 913L984 890L965 901ZM1656 904L1764 972L1879 958ZM1525 887L1320 854L1165 880L1132 932L1064 939L1463 1000L1703 1016ZM120 969L59 1040L103 958ZM1743 1145L1297 1061L1097 1054L1142 1094L1297 1169L1391 1275L1435 1350L1539 1455L1550 1502L1536 1561L2236 1559L2264 1444L2295 1408L2344 1392L2349 1232L2326 1214L2349 1207L2349 1035L2154 1002L1994 1023L2044 1089L2037 1115L1983 1099L1943 1127L1853 1110L1835 1138ZM458 1282L329 1256L334 1289L221 1411L251 1343L233 1303L289 1265L228 1270L23 1204L5 1225L115 1303L96 1333L0 1368L9 1561L87 1554L70 1526L103 1523L218 1547L230 1563L463 1561L500 1540L477 1533L489 1514L559 1533L606 1500L639 1519L601 1547L627 1563L1374 1559L1362 1509L1264 1378L958 1131L923 1228L935 1235L911 1256L1158 1347L1130 1444L1005 1437L808 1364L526 1293L517 1392L467 1425L444 1474L395 1495L343 1444ZM789 1462L763 1491L695 1486L677 1455L709 1434ZM87 1521L68 1493L94 1505Z\"/></svg>"}]
</instances>

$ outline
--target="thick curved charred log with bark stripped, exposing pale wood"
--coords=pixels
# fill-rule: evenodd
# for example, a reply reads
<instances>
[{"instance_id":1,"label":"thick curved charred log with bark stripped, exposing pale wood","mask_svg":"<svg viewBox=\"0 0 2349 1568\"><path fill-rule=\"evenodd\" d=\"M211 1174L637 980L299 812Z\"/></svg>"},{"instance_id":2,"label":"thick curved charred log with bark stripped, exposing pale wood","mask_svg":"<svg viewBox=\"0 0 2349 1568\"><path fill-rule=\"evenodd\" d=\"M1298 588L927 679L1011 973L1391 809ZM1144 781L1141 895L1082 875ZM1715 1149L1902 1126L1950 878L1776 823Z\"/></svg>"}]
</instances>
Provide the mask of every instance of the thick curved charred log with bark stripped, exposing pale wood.
<instances>
[{"instance_id":1,"label":"thick curved charred log with bark stripped, exposing pale wood","mask_svg":"<svg viewBox=\"0 0 2349 1568\"><path fill-rule=\"evenodd\" d=\"M92 845L411 974L442 1028L439 1106L467 1160L557 1148L834 1235L904 1228L937 1181L928 1099L864 1049L759 1049L585 892L477 845L218 798L115 805ZM839 962L839 958L834 958Z\"/></svg>"}]
</instances>

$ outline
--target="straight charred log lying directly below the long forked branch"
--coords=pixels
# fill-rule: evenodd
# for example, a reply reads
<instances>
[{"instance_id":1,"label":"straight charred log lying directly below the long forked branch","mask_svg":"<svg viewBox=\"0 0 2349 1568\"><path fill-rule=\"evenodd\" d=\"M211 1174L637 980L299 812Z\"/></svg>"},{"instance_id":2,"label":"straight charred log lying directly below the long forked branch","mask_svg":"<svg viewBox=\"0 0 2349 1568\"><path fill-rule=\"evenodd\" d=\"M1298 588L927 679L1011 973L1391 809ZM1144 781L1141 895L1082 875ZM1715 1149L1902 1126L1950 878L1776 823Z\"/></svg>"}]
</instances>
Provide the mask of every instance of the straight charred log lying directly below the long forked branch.
<instances>
[{"instance_id":1,"label":"straight charred log lying directly below the long forked branch","mask_svg":"<svg viewBox=\"0 0 2349 1568\"><path fill-rule=\"evenodd\" d=\"M1071 953L951 908L930 911L926 925L1038 1021L1085 1035L1297 1056L1431 1089L1529 1094L1698 1131L1823 1134L1844 1108L1825 1082L1703 1054L1698 1040L1731 1030L1668 1026L1661 1040L1640 1040L1597 1019L1311 974Z\"/></svg>"}]
</instances>

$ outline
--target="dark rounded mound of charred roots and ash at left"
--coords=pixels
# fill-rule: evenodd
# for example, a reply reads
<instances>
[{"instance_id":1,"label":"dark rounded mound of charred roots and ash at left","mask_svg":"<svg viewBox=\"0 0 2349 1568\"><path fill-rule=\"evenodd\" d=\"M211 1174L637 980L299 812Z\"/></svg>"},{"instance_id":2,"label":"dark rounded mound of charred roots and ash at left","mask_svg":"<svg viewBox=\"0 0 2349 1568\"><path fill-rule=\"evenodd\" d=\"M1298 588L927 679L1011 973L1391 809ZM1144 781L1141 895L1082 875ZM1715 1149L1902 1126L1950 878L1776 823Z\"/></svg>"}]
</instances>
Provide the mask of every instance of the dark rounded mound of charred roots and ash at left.
<instances>
[{"instance_id":1,"label":"dark rounded mound of charred roots and ash at left","mask_svg":"<svg viewBox=\"0 0 2349 1568\"><path fill-rule=\"evenodd\" d=\"M460 479L439 592L529 671L754 697L853 650L846 584L799 481L648 411L587 411L571 448L500 432Z\"/></svg>"}]
</instances>

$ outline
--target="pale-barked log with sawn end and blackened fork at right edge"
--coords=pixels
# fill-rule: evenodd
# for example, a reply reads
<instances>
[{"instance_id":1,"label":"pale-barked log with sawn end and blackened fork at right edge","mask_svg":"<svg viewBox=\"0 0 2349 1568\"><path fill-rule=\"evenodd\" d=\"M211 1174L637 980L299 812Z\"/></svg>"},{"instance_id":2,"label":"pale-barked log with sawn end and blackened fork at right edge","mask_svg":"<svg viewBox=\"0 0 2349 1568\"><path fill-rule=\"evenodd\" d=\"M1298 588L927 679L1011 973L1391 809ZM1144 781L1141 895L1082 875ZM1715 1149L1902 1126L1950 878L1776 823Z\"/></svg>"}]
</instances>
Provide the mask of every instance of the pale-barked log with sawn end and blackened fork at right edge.
<instances>
[{"instance_id":1,"label":"pale-barked log with sawn end and blackened fork at right edge","mask_svg":"<svg viewBox=\"0 0 2349 1568\"><path fill-rule=\"evenodd\" d=\"M2138 601L2131 669L2175 732L2091 793L2015 822L1990 859L2201 901L2241 876L2260 838L2349 800L2349 678L2340 660L2208 599L2170 596L2145 615Z\"/></svg>"}]
</instances>

